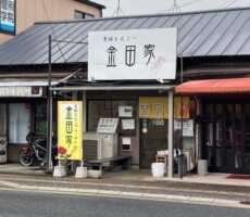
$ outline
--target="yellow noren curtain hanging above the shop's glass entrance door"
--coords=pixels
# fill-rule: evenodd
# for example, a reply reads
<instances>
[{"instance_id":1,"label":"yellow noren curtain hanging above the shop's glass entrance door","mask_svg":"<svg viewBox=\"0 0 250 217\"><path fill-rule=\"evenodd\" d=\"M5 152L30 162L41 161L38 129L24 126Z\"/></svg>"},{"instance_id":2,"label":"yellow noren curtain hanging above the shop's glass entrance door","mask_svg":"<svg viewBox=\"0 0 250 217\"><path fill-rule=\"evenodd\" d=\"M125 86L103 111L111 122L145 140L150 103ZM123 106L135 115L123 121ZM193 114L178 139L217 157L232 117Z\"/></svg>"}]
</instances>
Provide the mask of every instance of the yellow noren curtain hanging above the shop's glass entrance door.
<instances>
[{"instance_id":1,"label":"yellow noren curtain hanging above the shop's glass entrance door","mask_svg":"<svg viewBox=\"0 0 250 217\"><path fill-rule=\"evenodd\" d=\"M140 118L168 118L167 97L140 97L139 98ZM174 118L189 118L189 98L174 98Z\"/></svg>"}]
</instances>

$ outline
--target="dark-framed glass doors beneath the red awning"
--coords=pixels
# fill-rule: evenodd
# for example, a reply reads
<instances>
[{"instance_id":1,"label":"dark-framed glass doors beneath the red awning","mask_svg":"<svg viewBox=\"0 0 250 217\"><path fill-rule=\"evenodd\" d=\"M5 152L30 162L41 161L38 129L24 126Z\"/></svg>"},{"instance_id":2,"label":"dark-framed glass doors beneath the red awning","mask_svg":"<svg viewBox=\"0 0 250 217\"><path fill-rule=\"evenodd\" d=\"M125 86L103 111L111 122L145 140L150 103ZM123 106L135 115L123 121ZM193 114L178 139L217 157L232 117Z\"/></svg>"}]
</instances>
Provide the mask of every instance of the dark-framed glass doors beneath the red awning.
<instances>
[{"instance_id":1,"label":"dark-framed glass doors beneath the red awning","mask_svg":"<svg viewBox=\"0 0 250 217\"><path fill-rule=\"evenodd\" d=\"M210 171L250 174L250 104L204 102L203 155Z\"/></svg>"}]
</instances>

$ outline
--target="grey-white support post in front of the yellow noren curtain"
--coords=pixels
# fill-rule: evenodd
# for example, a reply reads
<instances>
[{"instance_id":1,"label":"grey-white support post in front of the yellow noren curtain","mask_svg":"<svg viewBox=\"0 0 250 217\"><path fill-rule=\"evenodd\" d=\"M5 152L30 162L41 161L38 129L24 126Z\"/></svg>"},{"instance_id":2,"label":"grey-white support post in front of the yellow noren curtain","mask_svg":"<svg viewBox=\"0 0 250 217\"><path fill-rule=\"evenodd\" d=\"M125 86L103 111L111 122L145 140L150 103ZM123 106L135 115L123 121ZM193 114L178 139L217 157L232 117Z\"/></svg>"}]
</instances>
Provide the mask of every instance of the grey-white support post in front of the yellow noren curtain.
<instances>
[{"instance_id":1,"label":"grey-white support post in front of the yellow noren curtain","mask_svg":"<svg viewBox=\"0 0 250 217\"><path fill-rule=\"evenodd\" d=\"M174 91L168 91L168 178L173 178L174 159Z\"/></svg>"}]
</instances>

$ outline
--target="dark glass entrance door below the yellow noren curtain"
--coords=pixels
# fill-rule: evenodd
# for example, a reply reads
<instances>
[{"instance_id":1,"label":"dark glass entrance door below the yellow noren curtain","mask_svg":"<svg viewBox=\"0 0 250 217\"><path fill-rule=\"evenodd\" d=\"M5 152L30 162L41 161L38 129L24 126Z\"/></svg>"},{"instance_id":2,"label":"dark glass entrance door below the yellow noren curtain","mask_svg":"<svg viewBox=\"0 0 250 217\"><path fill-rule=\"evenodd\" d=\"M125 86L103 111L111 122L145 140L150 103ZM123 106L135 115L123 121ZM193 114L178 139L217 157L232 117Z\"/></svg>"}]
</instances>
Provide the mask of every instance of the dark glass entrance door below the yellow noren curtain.
<instances>
[{"instance_id":1,"label":"dark glass entrance door below the yellow noren curtain","mask_svg":"<svg viewBox=\"0 0 250 217\"><path fill-rule=\"evenodd\" d=\"M167 119L140 119L140 167L149 169L160 150L167 150Z\"/></svg>"}]
</instances>

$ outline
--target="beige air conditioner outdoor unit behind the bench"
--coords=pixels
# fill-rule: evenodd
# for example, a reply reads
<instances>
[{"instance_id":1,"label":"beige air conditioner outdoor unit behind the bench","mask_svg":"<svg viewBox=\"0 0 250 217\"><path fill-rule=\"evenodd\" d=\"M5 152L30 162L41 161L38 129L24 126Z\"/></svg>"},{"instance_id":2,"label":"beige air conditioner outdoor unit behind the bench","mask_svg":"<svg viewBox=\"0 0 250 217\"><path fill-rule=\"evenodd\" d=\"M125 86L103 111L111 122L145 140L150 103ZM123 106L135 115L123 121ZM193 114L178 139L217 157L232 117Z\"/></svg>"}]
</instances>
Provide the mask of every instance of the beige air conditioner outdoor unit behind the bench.
<instances>
[{"instance_id":1,"label":"beige air conditioner outdoor unit behind the bench","mask_svg":"<svg viewBox=\"0 0 250 217\"><path fill-rule=\"evenodd\" d=\"M102 159L107 157L117 156L118 153L118 137L117 133L100 133L100 132L84 132L84 145L86 149L91 149L91 145L96 145L97 158L91 158L87 155L87 151L84 146L84 157L89 159ZM96 142L88 142L96 141ZM88 145L88 146L87 146ZM86 150L86 151L85 151ZM85 154L86 152L86 154ZM90 152L89 152L90 153ZM107 163L104 166L109 166Z\"/></svg>"}]
</instances>

